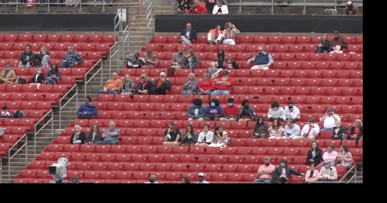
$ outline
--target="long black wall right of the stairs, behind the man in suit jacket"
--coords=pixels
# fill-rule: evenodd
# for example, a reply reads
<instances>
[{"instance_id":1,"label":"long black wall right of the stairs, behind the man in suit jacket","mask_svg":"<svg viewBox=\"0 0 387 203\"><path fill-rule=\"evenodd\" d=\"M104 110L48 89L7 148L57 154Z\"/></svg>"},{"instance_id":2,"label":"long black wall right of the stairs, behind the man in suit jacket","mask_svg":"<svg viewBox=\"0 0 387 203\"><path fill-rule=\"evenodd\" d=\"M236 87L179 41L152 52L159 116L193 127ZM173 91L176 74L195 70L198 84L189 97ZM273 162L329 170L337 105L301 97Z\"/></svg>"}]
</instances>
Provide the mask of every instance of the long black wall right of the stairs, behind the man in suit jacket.
<instances>
[{"instance_id":1,"label":"long black wall right of the stairs, behind the man in suit jacket","mask_svg":"<svg viewBox=\"0 0 387 203\"><path fill-rule=\"evenodd\" d=\"M362 15L156 15L156 32L181 32L191 23L197 32L232 22L241 32L363 33ZM200 25L200 26L199 26Z\"/></svg>"}]
</instances>

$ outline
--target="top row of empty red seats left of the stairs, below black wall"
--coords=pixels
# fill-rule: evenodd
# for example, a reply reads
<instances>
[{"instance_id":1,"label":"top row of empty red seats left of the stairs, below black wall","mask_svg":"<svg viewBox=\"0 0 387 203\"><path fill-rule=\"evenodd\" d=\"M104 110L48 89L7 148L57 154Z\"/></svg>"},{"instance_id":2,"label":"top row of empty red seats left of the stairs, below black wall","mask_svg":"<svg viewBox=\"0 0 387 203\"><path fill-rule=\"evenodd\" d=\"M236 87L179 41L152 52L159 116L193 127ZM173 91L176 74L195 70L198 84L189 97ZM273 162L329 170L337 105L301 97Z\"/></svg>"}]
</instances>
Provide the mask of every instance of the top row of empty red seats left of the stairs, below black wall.
<instances>
[{"instance_id":1,"label":"top row of empty red seats left of the stairs, below black wall","mask_svg":"<svg viewBox=\"0 0 387 203\"><path fill-rule=\"evenodd\" d=\"M4 43L107 43L114 44L113 34L0 34Z\"/></svg>"}]
</instances>

